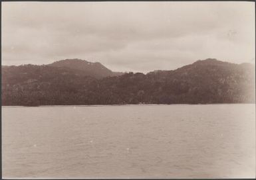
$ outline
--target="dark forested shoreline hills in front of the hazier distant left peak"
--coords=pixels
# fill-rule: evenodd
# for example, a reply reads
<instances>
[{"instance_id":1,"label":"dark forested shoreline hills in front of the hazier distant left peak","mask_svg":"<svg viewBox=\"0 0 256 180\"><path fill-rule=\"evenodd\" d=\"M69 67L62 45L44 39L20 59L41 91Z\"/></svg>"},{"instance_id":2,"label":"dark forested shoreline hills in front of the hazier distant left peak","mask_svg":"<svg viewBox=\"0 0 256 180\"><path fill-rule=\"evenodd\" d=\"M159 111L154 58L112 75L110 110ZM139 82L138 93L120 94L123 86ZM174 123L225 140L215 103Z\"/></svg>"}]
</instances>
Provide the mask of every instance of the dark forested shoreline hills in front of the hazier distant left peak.
<instances>
[{"instance_id":1,"label":"dark forested shoreline hills in front of the hazier distant left peak","mask_svg":"<svg viewBox=\"0 0 256 180\"><path fill-rule=\"evenodd\" d=\"M253 64L207 59L172 71L104 78L56 64L3 66L2 105L255 103Z\"/></svg>"}]
</instances>

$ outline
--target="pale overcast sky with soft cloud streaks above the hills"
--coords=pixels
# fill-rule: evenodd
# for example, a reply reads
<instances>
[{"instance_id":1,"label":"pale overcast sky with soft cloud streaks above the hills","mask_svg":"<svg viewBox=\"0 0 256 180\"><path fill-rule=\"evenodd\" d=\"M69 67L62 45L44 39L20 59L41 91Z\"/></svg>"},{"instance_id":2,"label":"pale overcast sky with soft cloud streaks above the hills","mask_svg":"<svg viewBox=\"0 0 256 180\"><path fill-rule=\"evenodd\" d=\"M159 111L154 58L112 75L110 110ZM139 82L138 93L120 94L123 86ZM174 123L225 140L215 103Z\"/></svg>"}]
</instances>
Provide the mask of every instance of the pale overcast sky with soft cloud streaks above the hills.
<instances>
[{"instance_id":1,"label":"pale overcast sky with soft cloud streaks above the hills","mask_svg":"<svg viewBox=\"0 0 256 180\"><path fill-rule=\"evenodd\" d=\"M2 2L2 64L80 58L113 71L255 62L253 2Z\"/></svg>"}]
</instances>

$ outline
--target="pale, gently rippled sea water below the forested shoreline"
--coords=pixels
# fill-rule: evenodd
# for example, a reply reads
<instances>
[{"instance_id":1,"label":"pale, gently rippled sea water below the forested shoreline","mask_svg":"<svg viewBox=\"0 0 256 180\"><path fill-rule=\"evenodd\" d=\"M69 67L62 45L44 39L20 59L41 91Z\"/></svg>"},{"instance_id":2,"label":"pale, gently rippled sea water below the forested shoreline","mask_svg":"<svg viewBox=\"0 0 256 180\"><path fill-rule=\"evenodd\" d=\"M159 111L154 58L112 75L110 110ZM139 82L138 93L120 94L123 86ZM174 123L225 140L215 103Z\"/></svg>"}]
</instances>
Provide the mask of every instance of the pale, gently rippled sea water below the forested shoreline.
<instances>
[{"instance_id":1,"label":"pale, gently rippled sea water below the forested shoreline","mask_svg":"<svg viewBox=\"0 0 256 180\"><path fill-rule=\"evenodd\" d=\"M3 177L255 177L255 105L2 107Z\"/></svg>"}]
</instances>

